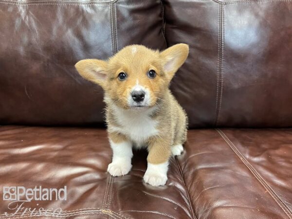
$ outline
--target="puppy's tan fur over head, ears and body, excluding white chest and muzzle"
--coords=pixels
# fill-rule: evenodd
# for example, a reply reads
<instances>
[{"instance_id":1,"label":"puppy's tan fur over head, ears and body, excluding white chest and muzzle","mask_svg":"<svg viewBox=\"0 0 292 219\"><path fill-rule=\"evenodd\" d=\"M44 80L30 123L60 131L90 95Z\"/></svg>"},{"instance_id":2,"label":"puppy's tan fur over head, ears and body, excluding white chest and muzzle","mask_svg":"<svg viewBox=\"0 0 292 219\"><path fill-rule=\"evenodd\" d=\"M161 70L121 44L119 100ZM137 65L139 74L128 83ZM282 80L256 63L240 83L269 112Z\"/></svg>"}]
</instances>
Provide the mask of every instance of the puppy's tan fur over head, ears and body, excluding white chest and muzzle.
<instances>
[{"instance_id":1,"label":"puppy's tan fur over head, ears and body, excluding white chest and muzzle","mask_svg":"<svg viewBox=\"0 0 292 219\"><path fill-rule=\"evenodd\" d=\"M100 85L105 91L110 141L115 144L130 142L136 146L147 146L148 164L168 162L171 147L183 145L186 141L187 116L168 87L187 55L186 44L174 45L163 52L141 45L131 45L107 61L85 59L75 65L82 77ZM147 76L150 70L156 72L154 78ZM124 81L118 79L121 72L127 74ZM143 86L149 94L149 103L145 109L134 109L128 103L130 93L137 84ZM123 129L124 124L121 124L117 110L135 115L141 113L141 116L149 117L149 121L155 122L154 128L157 131L141 138L141 141L133 139L129 134L119 131Z\"/></svg>"}]
</instances>

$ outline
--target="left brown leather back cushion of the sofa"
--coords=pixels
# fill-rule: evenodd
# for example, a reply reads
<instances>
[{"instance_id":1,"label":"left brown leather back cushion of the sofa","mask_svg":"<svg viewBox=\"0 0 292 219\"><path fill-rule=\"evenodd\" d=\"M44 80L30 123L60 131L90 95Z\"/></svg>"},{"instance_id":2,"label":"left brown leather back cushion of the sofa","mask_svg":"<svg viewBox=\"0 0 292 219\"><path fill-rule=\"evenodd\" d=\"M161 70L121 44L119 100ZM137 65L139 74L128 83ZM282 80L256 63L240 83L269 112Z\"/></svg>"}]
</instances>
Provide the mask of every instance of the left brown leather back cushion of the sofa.
<instances>
[{"instance_id":1,"label":"left brown leather back cushion of the sofa","mask_svg":"<svg viewBox=\"0 0 292 219\"><path fill-rule=\"evenodd\" d=\"M103 91L74 64L165 49L162 26L160 0L0 1L0 124L102 124Z\"/></svg>"}]
</instances>

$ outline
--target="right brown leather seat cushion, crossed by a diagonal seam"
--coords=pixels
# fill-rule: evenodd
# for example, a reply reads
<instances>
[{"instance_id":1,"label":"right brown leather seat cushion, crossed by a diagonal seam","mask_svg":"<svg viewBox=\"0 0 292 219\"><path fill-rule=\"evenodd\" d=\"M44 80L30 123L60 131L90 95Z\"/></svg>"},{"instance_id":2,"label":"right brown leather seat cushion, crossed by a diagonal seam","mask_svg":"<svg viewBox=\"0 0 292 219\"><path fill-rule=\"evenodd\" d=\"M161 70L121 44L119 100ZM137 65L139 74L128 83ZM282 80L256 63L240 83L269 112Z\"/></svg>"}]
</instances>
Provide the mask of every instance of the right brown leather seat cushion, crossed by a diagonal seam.
<instances>
[{"instance_id":1,"label":"right brown leather seat cushion, crossed by a diagonal seam","mask_svg":"<svg viewBox=\"0 0 292 219\"><path fill-rule=\"evenodd\" d=\"M178 157L197 218L292 218L292 129L191 130Z\"/></svg>"}]
</instances>

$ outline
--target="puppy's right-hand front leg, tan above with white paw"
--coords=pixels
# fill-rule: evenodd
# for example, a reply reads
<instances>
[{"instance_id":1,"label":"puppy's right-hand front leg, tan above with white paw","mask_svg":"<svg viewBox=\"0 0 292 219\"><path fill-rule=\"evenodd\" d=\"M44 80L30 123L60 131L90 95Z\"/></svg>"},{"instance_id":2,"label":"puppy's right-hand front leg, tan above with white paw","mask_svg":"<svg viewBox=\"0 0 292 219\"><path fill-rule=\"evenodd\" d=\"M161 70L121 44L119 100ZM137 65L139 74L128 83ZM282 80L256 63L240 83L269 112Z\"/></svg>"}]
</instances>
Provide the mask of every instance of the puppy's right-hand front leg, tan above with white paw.
<instances>
[{"instance_id":1,"label":"puppy's right-hand front leg, tan above with white paw","mask_svg":"<svg viewBox=\"0 0 292 219\"><path fill-rule=\"evenodd\" d=\"M150 185L164 185L167 181L171 142L163 138L152 139L149 143L148 151L147 170L143 179Z\"/></svg>"}]
</instances>

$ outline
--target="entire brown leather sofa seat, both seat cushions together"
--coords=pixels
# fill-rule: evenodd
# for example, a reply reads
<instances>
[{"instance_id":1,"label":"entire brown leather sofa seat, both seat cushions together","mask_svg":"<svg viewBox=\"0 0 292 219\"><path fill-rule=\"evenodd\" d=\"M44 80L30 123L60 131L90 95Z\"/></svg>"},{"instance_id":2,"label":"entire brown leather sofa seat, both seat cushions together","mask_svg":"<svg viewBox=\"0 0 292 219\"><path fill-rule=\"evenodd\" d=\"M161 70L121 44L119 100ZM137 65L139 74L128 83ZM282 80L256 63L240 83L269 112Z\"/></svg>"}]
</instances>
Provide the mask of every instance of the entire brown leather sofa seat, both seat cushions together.
<instances>
[{"instance_id":1,"label":"entire brown leather sofa seat, both seat cushions together","mask_svg":"<svg viewBox=\"0 0 292 219\"><path fill-rule=\"evenodd\" d=\"M1 189L0 218L5 212L31 218L26 208L78 219L292 218L291 156L292 129L189 130L185 151L171 159L167 185L153 187L142 181L143 150L134 152L128 175L106 172L105 129L2 126L0 188L66 186L67 200L34 199L17 211L21 201L5 200Z\"/></svg>"}]
</instances>

